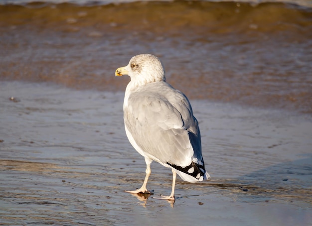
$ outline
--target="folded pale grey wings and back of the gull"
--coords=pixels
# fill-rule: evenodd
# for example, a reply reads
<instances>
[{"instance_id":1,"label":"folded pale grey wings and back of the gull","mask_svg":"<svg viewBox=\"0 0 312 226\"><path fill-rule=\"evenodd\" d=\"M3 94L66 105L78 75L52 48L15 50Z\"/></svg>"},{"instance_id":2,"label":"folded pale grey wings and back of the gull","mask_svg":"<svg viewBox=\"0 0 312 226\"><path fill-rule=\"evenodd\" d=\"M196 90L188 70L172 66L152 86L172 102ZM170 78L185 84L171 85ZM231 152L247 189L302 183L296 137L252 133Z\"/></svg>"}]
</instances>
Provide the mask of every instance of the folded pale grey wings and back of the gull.
<instances>
[{"instance_id":1,"label":"folded pale grey wings and back of the gull","mask_svg":"<svg viewBox=\"0 0 312 226\"><path fill-rule=\"evenodd\" d=\"M189 101L167 83L152 83L131 94L124 119L138 146L154 160L180 168L192 162L203 165L198 122Z\"/></svg>"}]
</instances>

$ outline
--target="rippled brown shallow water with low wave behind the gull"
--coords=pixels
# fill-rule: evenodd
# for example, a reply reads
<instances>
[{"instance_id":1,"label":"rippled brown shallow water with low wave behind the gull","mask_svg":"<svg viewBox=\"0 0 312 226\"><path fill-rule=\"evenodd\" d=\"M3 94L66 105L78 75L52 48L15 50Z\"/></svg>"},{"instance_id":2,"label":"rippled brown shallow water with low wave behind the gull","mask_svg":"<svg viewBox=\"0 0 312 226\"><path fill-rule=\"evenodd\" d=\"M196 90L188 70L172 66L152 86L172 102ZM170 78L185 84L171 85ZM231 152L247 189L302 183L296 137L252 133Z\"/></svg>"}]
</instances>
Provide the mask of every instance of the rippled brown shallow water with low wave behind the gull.
<instances>
[{"instance_id":1,"label":"rippled brown shallow water with low wave behind the gull","mask_svg":"<svg viewBox=\"0 0 312 226\"><path fill-rule=\"evenodd\" d=\"M0 79L123 91L114 71L162 60L192 99L312 112L312 10L173 1L0 5Z\"/></svg>"}]
</instances>

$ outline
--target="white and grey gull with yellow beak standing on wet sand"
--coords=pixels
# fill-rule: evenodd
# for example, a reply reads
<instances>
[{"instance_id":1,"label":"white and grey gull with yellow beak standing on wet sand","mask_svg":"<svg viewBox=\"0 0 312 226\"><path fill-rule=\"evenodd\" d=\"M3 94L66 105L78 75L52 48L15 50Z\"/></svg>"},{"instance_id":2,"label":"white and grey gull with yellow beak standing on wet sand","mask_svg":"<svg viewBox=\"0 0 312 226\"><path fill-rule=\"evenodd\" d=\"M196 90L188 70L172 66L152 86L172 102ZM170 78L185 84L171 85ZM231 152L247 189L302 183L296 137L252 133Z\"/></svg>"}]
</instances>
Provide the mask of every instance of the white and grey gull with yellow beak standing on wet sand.
<instances>
[{"instance_id":1,"label":"white and grey gull with yellow beak standing on wet sand","mask_svg":"<svg viewBox=\"0 0 312 226\"><path fill-rule=\"evenodd\" d=\"M142 187L126 192L149 193L146 185L153 160L171 168L173 173L171 194L160 199L174 200L176 173L188 182L209 178L191 105L183 93L165 82L159 59L151 54L134 56L115 75L131 78L124 100L125 129L130 143L145 157L147 165Z\"/></svg>"}]
</instances>

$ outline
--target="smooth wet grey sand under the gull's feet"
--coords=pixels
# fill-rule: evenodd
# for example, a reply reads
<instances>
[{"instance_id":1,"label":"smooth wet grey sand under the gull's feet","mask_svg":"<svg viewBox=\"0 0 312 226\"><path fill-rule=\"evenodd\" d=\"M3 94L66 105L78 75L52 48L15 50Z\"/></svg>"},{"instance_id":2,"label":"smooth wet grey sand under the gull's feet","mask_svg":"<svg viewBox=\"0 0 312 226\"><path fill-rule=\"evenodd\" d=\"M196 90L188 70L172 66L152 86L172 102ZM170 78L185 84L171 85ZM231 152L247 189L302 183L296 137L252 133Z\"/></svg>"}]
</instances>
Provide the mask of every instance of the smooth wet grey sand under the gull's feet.
<instances>
[{"instance_id":1,"label":"smooth wet grey sand under the gull's feet","mask_svg":"<svg viewBox=\"0 0 312 226\"><path fill-rule=\"evenodd\" d=\"M145 176L123 92L15 81L0 83L0 100L2 225L311 225L310 115L191 100L212 178L178 178L171 204L152 199L171 188L158 163L154 194L123 192Z\"/></svg>"}]
</instances>

